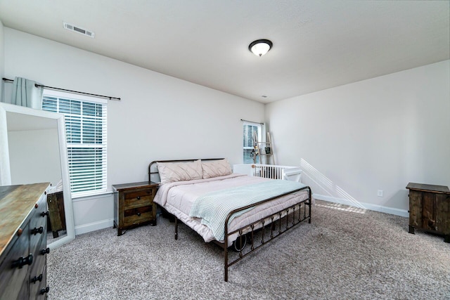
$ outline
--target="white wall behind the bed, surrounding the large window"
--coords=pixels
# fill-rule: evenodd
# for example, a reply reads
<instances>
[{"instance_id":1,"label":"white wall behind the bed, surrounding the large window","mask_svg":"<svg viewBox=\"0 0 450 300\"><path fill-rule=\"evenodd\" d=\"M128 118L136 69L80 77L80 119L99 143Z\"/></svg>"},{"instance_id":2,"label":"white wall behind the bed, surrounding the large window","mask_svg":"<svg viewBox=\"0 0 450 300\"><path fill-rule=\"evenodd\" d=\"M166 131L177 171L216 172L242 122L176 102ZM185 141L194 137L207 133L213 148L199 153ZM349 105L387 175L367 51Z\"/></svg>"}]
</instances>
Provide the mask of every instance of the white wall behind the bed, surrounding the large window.
<instances>
[{"instance_id":1,"label":"white wall behind the bed, surrounding the large window","mask_svg":"<svg viewBox=\"0 0 450 300\"><path fill-rule=\"evenodd\" d=\"M264 122L262 103L7 27L4 43L5 77L122 98L108 102L109 188L147 181L148 164L156 159L241 163L240 119ZM75 200L74 211L77 233L112 225L113 196Z\"/></svg>"}]
</instances>

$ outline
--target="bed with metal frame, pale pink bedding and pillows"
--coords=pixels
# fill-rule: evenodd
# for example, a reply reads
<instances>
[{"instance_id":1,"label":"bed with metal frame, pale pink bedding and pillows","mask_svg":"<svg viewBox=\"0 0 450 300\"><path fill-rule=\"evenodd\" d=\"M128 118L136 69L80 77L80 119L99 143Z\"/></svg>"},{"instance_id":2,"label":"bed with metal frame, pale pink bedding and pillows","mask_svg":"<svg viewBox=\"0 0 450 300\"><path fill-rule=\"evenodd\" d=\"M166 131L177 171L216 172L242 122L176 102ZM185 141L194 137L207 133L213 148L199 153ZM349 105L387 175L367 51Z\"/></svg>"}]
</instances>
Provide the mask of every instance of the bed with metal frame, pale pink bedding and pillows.
<instances>
[{"instance_id":1,"label":"bed with metal frame, pale pink bedding and pillows","mask_svg":"<svg viewBox=\"0 0 450 300\"><path fill-rule=\"evenodd\" d=\"M181 221L224 249L225 281L230 266L297 224L311 223L308 186L233 174L226 159L155 161L148 176L160 183L154 202L174 217L176 240Z\"/></svg>"}]
</instances>

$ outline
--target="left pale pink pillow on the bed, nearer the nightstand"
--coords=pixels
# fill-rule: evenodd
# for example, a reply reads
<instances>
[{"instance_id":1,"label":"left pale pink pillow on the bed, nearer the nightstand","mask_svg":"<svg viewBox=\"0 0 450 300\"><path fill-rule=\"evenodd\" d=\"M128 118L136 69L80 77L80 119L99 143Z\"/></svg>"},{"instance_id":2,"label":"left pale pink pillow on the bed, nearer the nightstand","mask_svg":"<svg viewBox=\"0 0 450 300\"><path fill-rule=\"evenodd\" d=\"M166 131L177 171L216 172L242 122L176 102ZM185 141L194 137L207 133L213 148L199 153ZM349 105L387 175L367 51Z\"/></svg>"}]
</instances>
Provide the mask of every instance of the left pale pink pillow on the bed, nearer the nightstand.
<instances>
[{"instance_id":1,"label":"left pale pink pillow on the bed, nearer the nightstand","mask_svg":"<svg viewBox=\"0 0 450 300\"><path fill-rule=\"evenodd\" d=\"M190 181L203 176L202 162L157 162L161 184L175 181Z\"/></svg>"}]
</instances>

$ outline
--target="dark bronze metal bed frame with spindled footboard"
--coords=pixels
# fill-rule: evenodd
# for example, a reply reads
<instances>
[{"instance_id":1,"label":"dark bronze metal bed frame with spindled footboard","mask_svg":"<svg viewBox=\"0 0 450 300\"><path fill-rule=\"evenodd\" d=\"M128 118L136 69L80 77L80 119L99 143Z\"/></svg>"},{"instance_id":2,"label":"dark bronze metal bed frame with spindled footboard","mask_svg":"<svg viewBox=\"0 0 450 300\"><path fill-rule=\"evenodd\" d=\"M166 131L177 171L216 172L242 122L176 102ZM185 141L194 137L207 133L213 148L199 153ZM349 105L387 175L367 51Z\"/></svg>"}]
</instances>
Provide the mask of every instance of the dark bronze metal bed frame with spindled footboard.
<instances>
[{"instance_id":1,"label":"dark bronze metal bed frame with spindled footboard","mask_svg":"<svg viewBox=\"0 0 450 300\"><path fill-rule=\"evenodd\" d=\"M221 158L214 158L214 159L201 159L201 160L217 160ZM152 180L155 179L155 176L159 176L158 169L156 171L152 170L152 167L156 164L156 162L192 162L197 159L179 159L179 160L158 160L154 162L150 162L148 165L148 178L149 181L157 182ZM156 180L156 179L155 179ZM158 178L159 180L159 178ZM256 207L259 204L263 204L266 202L274 201L280 197L283 197L285 195L293 194L300 192L301 190L307 190L308 191L308 197L305 200L300 200L296 204L292 205L291 207L288 207L286 209L282 209L281 211L277 211L274 214L271 214L269 216L265 216L262 219L259 219L258 221L255 221L253 223L250 223L246 226L243 226L242 228L238 228L236 230L233 230L229 232L228 229L228 223L229 219L233 214L235 214L238 211L243 211L245 209L249 209L251 207ZM172 215L172 214L171 214ZM175 240L178 240L178 218L176 216L172 215L175 219ZM259 247L262 247L264 244L267 244L267 242L274 240L274 238L278 237L282 233L285 233L290 228L293 228L299 223L302 223L303 221L308 220L308 223L311 223L311 188L309 186L305 186L304 188L300 188L297 190L293 190L290 193L284 193L283 195L278 195L276 197L271 197L266 200L262 200L260 202L257 202L255 204L250 204L245 207L240 207L239 209L235 209L231 211L228 216L226 217L225 221L225 227L224 227L224 242L219 242L217 240L214 240L214 244L219 245L222 249L224 249L224 280L228 282L228 275L229 275L229 267L233 266L235 263L243 259L245 256L248 256L250 253L254 252ZM278 223L278 224L277 224ZM267 229L267 227L269 227ZM251 246L250 249L247 251L245 250L245 244L243 247L235 245L235 250L238 252L238 255L236 255L236 258L230 258L229 251L231 245L229 245L229 237L231 235L234 235L238 233L238 237L236 238L236 241L233 242L233 245L238 242L242 245L244 242L247 243L247 240L250 240ZM270 234L269 234L270 233ZM257 238L261 238L259 243L256 241Z\"/></svg>"}]
</instances>

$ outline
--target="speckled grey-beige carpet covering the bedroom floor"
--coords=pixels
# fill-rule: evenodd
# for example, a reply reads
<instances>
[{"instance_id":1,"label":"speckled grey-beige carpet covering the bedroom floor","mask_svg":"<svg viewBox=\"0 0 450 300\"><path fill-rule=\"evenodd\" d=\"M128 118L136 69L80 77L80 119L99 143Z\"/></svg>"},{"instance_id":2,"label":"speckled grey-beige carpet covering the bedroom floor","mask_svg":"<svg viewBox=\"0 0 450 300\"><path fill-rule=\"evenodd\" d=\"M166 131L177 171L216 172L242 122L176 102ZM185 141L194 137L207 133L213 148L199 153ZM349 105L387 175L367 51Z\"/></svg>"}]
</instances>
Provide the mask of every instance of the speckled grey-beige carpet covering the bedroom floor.
<instances>
[{"instance_id":1,"label":"speckled grey-beige carpet covering the bedroom floor","mask_svg":"<svg viewBox=\"0 0 450 300\"><path fill-rule=\"evenodd\" d=\"M312 222L231 266L159 217L79 235L48 256L49 299L450 299L450 244L408 219L317 201Z\"/></svg>"}]
</instances>

